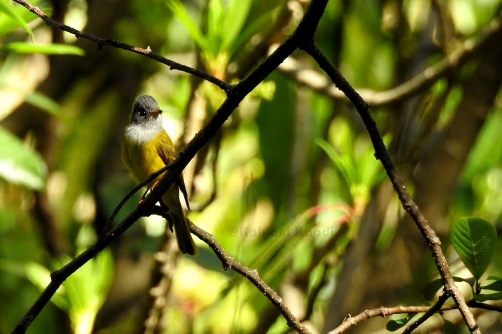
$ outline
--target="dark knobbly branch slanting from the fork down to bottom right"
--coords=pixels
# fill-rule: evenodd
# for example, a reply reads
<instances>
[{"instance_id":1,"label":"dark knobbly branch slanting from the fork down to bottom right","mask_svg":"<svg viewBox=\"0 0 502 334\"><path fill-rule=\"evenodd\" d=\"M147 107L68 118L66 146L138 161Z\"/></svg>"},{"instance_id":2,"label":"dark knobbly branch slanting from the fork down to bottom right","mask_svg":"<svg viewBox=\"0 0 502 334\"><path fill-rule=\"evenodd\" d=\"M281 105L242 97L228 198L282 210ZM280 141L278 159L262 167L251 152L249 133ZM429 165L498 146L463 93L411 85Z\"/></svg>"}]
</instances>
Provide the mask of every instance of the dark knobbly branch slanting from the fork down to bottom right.
<instances>
[{"instance_id":1,"label":"dark knobbly branch slanting from the fork down to bottom right","mask_svg":"<svg viewBox=\"0 0 502 334\"><path fill-rule=\"evenodd\" d=\"M443 254L443 250L441 249L441 241L425 219L417 204L415 204L410 194L406 190L405 182L397 172L392 160L390 159L390 155L385 147L385 144L383 143L382 136L378 131L375 120L369 112L369 105L361 98L361 96L354 90L354 88L352 88L347 80L345 80L342 74L317 47L314 41L306 44L305 46L303 46L303 48L318 63L319 67L321 67L321 69L326 72L326 74L328 74L333 83L341 91L344 92L344 94L354 105L357 112L361 116L361 119L363 120L364 125L366 126L366 129L369 133L371 142L373 143L373 146L375 148L375 157L381 161L390 181L392 182L395 192L397 193L397 196L399 197L399 200L403 205L403 208L413 219L418 229L422 233L422 236L427 241L429 248L431 249L432 256L434 258L434 261L436 262L436 267L443 280L445 294L452 297L457 304L460 314L462 314L462 317L464 318L464 321L467 324L470 332L480 334L481 331L479 330L479 327L474 320L474 316L469 310L469 307L467 307L464 297L453 281L450 268L448 267L448 263Z\"/></svg>"}]
</instances>

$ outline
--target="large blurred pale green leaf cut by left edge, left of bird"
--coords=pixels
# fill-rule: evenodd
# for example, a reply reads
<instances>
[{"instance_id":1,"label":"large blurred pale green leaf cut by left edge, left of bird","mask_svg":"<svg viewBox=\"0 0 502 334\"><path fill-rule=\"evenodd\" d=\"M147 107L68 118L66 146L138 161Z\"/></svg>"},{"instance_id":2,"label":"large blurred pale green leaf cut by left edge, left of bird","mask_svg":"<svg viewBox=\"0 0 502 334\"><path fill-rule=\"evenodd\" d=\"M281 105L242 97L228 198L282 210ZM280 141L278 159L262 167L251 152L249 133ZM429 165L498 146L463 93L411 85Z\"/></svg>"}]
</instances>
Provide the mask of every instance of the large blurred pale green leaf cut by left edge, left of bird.
<instances>
[{"instance_id":1,"label":"large blurred pale green leaf cut by left edge, left of bird","mask_svg":"<svg viewBox=\"0 0 502 334\"><path fill-rule=\"evenodd\" d=\"M0 178L30 189L42 189L47 177L47 167L42 157L1 127L0 143L2 143L0 145Z\"/></svg>"}]
</instances>

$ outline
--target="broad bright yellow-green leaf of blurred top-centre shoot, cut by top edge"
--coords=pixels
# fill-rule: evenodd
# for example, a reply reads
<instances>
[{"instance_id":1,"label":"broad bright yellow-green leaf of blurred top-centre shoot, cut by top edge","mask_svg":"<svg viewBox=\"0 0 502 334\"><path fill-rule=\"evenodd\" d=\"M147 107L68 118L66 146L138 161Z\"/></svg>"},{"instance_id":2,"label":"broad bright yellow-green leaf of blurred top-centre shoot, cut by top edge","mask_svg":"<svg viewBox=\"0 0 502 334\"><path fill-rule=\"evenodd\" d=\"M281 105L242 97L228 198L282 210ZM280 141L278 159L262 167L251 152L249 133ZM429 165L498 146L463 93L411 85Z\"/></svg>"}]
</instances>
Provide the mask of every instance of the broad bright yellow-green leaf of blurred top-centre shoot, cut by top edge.
<instances>
[{"instance_id":1,"label":"broad bright yellow-green leaf of blurred top-centre shoot, cut by top edge","mask_svg":"<svg viewBox=\"0 0 502 334\"><path fill-rule=\"evenodd\" d=\"M230 0L222 25L222 49L228 50L242 29L249 14L251 0Z\"/></svg>"}]
</instances>

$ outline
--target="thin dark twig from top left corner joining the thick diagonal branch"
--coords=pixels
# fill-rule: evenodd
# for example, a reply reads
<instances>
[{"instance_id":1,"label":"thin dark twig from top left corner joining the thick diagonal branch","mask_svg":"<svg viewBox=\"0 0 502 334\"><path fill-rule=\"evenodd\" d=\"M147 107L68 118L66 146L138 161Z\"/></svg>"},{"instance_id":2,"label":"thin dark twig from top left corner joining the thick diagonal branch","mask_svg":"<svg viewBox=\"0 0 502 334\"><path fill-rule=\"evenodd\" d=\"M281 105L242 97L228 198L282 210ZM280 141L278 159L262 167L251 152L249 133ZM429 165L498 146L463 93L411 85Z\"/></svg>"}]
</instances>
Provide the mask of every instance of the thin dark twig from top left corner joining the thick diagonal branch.
<instances>
[{"instance_id":1,"label":"thin dark twig from top left corner joining the thick diagonal branch","mask_svg":"<svg viewBox=\"0 0 502 334\"><path fill-rule=\"evenodd\" d=\"M113 40L110 38L97 37L92 34L82 32L82 31L77 30L73 27L67 26L61 22L58 22L56 20L51 19L42 10L40 10L40 8L31 5L30 3L28 3L25 0L13 0L13 1L26 7L30 12L32 12L33 14L35 14L36 16L41 18L48 26L51 26L51 27L54 27L57 29L61 29L63 31L66 31L70 34L75 35L76 37L82 37L82 38L85 38L89 41L96 43L98 50L101 50L101 48L103 48L103 46L105 46L105 45L109 45L109 46L113 46L118 49L131 51L131 52L143 55L145 57L151 58L153 60L156 60L162 64L165 64L165 65L169 66L169 68L171 70L178 70L181 72L185 72L185 73L197 76L199 78L202 78L206 81L209 81L209 82L215 84L216 86L218 86L220 89L222 89L226 93L228 93L232 89L231 84L223 82L222 80L215 78L214 76L209 75L208 73L206 73L204 71L201 71L201 70L177 63L177 62L170 60L170 59L167 59L165 57L162 57L161 55L158 55L155 52L153 52L149 46L146 49L143 49L143 48L140 48L137 46L132 46L127 43L124 43L121 41L116 41L116 40Z\"/></svg>"}]
</instances>

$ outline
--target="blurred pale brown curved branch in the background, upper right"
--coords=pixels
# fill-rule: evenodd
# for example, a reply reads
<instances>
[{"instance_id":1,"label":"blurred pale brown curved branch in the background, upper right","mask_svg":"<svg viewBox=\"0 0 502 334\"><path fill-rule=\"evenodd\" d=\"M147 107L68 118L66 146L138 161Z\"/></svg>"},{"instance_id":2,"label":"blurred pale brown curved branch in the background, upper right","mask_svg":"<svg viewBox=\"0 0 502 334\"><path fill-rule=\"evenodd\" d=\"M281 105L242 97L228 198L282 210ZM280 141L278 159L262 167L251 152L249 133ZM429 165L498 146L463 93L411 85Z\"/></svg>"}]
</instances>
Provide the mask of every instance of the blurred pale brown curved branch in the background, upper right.
<instances>
[{"instance_id":1,"label":"blurred pale brown curved branch in the background, upper right","mask_svg":"<svg viewBox=\"0 0 502 334\"><path fill-rule=\"evenodd\" d=\"M502 16L494 18L474 38L468 39L460 47L445 56L442 60L424 69L422 72L386 91L357 89L358 94L372 107L386 106L429 88L440 77L464 64L479 50L486 46L500 30ZM299 84L330 97L333 100L347 100L345 94L315 70L304 68L299 61L289 57L279 66L279 70L293 78Z\"/></svg>"}]
</instances>

